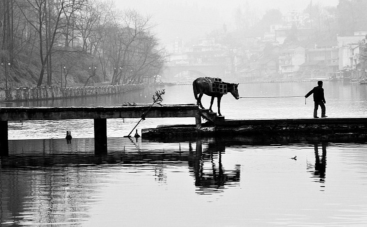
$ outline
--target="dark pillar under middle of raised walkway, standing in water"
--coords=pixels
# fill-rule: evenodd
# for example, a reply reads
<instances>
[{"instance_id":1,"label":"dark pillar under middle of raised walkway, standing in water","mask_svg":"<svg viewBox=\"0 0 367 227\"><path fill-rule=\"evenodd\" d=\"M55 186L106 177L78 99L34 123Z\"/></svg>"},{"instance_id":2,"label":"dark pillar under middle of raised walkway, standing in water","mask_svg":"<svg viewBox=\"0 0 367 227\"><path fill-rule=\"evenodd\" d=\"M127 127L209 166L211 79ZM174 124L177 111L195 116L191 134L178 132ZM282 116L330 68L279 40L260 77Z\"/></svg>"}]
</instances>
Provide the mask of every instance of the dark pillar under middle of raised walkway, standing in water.
<instances>
[{"instance_id":1,"label":"dark pillar under middle of raised walkway, standing in water","mask_svg":"<svg viewBox=\"0 0 367 227\"><path fill-rule=\"evenodd\" d=\"M94 119L94 154L107 153L107 119Z\"/></svg>"}]
</instances>

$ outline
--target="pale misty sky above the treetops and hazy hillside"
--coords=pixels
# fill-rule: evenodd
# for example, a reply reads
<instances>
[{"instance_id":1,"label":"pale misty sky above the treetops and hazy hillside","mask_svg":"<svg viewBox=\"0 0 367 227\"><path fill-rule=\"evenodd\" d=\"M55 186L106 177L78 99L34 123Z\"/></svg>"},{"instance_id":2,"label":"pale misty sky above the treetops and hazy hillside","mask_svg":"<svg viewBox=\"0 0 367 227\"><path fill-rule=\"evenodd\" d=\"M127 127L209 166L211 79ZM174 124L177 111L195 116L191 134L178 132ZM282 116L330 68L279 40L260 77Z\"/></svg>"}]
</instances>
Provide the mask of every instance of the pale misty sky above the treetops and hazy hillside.
<instances>
[{"instance_id":1,"label":"pale misty sky above the treetops and hazy hillside","mask_svg":"<svg viewBox=\"0 0 367 227\"><path fill-rule=\"evenodd\" d=\"M118 0L120 9L134 8L142 15L151 15L155 34L162 44L170 44L175 38L190 41L204 37L205 33L219 29L225 23L234 26L234 11L248 7L262 16L266 10L279 9L282 13L303 10L310 0ZM321 6L336 6L338 0L312 0Z\"/></svg>"}]
</instances>

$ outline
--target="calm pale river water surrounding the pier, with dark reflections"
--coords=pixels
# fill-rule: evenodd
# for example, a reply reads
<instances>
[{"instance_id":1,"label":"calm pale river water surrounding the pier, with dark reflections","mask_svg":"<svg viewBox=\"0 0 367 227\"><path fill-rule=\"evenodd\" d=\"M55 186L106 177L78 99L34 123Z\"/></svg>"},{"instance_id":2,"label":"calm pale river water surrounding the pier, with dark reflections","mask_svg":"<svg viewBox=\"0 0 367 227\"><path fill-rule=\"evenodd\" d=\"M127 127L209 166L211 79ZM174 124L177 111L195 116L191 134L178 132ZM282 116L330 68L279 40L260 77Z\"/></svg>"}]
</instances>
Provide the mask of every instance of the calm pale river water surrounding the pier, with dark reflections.
<instances>
[{"instance_id":1,"label":"calm pale river water surrounding the pier, with dark reflections","mask_svg":"<svg viewBox=\"0 0 367 227\"><path fill-rule=\"evenodd\" d=\"M240 84L239 94L298 96L313 86ZM324 83L326 114L365 117L366 88ZM0 105L150 103L156 89ZM189 85L165 89L163 104L194 102ZM208 102L205 97L205 107ZM226 119L309 118L312 111L312 99L304 105L302 97L226 95L221 105ZM0 158L0 226L367 226L364 137L121 138L137 121L107 121L105 156L94 155L92 120L9 122L9 156ZM139 127L177 122L194 119L147 119ZM71 144L63 139L66 130Z\"/></svg>"}]
</instances>

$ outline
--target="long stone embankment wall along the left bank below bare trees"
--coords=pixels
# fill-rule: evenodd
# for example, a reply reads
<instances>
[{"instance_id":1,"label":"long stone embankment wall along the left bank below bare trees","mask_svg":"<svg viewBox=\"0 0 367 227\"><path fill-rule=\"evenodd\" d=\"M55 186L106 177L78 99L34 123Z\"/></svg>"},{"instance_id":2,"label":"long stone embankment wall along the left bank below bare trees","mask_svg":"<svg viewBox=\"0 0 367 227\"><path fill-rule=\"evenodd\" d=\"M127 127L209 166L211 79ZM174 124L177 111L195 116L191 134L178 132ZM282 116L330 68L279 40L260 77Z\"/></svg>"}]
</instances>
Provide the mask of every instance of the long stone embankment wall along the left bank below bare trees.
<instances>
[{"instance_id":1,"label":"long stone embankment wall along the left bank below bare trees","mask_svg":"<svg viewBox=\"0 0 367 227\"><path fill-rule=\"evenodd\" d=\"M144 84L113 85L113 86L88 86L88 87L39 87L1 89L0 101L28 101L44 99L74 98L93 95L108 95L125 93L143 89Z\"/></svg>"}]
</instances>

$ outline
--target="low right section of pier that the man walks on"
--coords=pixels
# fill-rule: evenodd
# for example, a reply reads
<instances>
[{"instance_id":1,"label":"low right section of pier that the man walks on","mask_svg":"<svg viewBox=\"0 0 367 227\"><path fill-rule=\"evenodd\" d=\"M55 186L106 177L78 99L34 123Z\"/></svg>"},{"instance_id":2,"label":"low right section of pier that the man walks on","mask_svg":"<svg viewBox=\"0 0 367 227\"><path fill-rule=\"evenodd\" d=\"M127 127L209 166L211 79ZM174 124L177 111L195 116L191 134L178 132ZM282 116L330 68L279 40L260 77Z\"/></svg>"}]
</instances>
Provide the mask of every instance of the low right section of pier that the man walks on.
<instances>
[{"instance_id":1,"label":"low right section of pier that the man walks on","mask_svg":"<svg viewBox=\"0 0 367 227\"><path fill-rule=\"evenodd\" d=\"M318 118L318 119L249 119L223 120L195 125L163 125L142 129L144 139L179 137L220 137L236 135L294 135L335 133L367 133L367 118Z\"/></svg>"}]
</instances>

